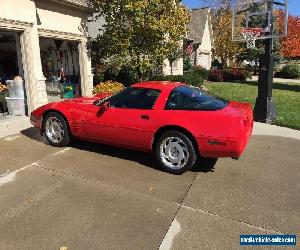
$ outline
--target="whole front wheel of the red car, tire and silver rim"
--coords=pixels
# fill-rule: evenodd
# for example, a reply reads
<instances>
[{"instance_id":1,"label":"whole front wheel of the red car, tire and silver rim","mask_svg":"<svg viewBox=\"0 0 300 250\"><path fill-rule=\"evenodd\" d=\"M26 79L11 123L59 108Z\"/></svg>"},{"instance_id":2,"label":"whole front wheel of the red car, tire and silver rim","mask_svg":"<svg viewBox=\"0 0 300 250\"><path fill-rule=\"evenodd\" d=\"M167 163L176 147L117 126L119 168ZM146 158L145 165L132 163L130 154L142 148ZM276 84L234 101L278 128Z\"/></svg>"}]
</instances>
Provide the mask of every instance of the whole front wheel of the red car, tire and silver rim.
<instances>
[{"instance_id":1,"label":"whole front wheel of the red car, tire and silver rim","mask_svg":"<svg viewBox=\"0 0 300 250\"><path fill-rule=\"evenodd\" d=\"M49 112L44 119L44 133L47 141L55 147L70 143L70 133L65 119L56 112Z\"/></svg>"}]
</instances>

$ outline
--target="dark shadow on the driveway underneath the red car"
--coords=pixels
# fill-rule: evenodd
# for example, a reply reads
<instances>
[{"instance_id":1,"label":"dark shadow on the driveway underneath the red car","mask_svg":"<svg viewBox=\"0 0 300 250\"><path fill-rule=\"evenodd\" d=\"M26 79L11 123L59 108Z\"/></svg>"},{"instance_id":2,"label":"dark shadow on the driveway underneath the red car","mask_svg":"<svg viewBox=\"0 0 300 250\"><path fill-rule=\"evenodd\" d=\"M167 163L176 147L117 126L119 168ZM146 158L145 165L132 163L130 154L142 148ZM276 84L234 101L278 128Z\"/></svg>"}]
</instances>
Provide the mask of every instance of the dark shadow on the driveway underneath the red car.
<instances>
[{"instance_id":1,"label":"dark shadow on the driveway underneath the red car","mask_svg":"<svg viewBox=\"0 0 300 250\"><path fill-rule=\"evenodd\" d=\"M32 140L49 144L47 140L40 135L39 130L36 128L29 128L23 130L21 131L21 134L23 134L24 136ZM144 166L156 170L161 170L154 154L149 154L142 151L135 151L126 148L114 147L114 146L109 146L109 145L104 145L104 144L99 144L94 142L82 141L82 140L75 140L74 142L72 142L70 147L79 150L88 151L88 152L116 157L124 160L135 161ZM214 172L214 167L215 164L217 163L217 160L218 159L214 159L214 158L205 158L205 159L201 158L196 162L195 166L191 169L191 171L195 173Z\"/></svg>"}]
</instances>

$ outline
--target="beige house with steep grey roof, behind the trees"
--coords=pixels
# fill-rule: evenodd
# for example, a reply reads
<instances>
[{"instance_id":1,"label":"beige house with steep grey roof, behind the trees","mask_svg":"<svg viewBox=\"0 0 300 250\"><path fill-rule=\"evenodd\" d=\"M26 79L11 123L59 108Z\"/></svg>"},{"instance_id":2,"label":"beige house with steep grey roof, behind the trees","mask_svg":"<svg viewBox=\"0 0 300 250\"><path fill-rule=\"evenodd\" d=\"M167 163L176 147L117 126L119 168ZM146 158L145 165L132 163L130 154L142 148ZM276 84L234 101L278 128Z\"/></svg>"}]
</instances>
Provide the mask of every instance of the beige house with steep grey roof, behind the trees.
<instances>
[{"instance_id":1,"label":"beige house with steep grey roof, behind the trees","mask_svg":"<svg viewBox=\"0 0 300 250\"><path fill-rule=\"evenodd\" d=\"M190 54L191 62L193 65L200 65L206 69L210 69L213 48L210 9L192 9L190 14L191 21L188 24L188 34L185 40L189 41L193 46L192 53ZM186 43L184 47L186 49ZM183 59L180 58L172 64L168 60L165 60L163 73L165 75L182 75Z\"/></svg>"}]
</instances>

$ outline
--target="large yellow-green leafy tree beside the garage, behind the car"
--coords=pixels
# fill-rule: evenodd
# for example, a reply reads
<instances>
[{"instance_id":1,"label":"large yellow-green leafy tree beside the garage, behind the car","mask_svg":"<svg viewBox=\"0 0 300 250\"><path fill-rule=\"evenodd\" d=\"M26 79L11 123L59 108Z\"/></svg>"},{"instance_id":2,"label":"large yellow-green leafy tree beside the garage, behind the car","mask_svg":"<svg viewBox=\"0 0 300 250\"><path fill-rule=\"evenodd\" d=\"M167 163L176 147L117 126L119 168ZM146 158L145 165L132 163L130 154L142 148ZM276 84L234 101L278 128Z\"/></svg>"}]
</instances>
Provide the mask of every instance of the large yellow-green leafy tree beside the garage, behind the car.
<instances>
[{"instance_id":1,"label":"large yellow-green leafy tree beside the garage, behind the car","mask_svg":"<svg viewBox=\"0 0 300 250\"><path fill-rule=\"evenodd\" d=\"M93 41L97 63L130 65L145 74L177 53L187 33L189 12L179 0L92 0L105 19Z\"/></svg>"}]
</instances>

